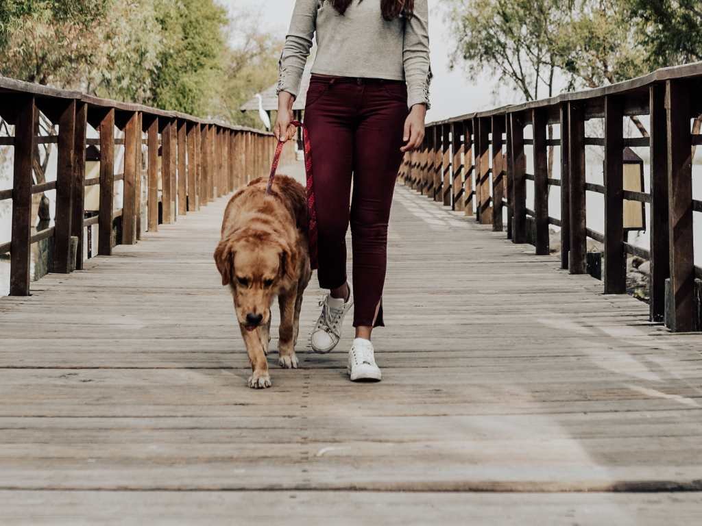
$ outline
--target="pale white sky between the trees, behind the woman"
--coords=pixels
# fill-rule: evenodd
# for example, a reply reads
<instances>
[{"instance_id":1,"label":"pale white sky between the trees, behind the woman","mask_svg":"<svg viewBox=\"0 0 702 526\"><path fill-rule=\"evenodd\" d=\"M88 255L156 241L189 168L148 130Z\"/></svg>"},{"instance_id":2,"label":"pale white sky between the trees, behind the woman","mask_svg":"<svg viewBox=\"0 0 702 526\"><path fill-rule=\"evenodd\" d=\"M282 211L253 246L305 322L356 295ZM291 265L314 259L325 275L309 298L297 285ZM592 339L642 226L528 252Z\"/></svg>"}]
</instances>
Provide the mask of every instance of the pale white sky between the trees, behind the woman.
<instances>
[{"instance_id":1,"label":"pale white sky between the trees, behind the woman","mask_svg":"<svg viewBox=\"0 0 702 526\"><path fill-rule=\"evenodd\" d=\"M279 34L287 32L290 16L295 5L294 0L220 0L232 13L244 9L259 13L260 28ZM429 37L431 63L434 79L431 86L432 109L427 115L428 121L437 121L447 117L476 112L491 107L502 106L515 100L498 100L494 95L499 88L498 81L486 76L468 79L461 69L449 70L449 55L453 40L449 27L444 20L444 13L439 10L439 0L429 0L430 23ZM504 92L504 90L503 90Z\"/></svg>"}]
</instances>

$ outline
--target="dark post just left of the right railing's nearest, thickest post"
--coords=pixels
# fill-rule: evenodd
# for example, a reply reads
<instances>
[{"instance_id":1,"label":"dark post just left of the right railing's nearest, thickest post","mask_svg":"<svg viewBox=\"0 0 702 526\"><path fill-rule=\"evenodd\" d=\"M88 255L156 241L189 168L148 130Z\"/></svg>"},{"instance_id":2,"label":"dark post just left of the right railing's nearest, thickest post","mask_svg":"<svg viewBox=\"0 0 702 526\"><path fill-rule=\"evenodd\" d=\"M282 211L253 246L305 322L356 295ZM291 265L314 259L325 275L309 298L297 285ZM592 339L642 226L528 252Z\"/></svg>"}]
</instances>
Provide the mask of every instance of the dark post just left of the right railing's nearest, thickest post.
<instances>
[{"instance_id":1,"label":"dark post just left of the right railing's nearest, thickest post","mask_svg":"<svg viewBox=\"0 0 702 526\"><path fill-rule=\"evenodd\" d=\"M651 321L663 321L665 316L665 280L670 277L668 250L668 128L665 113L665 84L649 88L651 114L651 274L649 309Z\"/></svg>"}]
</instances>

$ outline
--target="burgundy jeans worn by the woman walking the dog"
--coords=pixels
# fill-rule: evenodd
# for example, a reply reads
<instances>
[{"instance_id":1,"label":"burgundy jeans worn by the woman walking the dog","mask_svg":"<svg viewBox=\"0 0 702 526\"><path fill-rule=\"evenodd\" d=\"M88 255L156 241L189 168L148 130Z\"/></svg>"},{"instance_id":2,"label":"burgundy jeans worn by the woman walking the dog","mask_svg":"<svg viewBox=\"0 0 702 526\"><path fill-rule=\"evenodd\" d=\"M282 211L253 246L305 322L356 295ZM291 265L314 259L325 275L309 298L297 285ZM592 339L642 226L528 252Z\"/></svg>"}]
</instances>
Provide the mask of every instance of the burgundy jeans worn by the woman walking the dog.
<instances>
[{"instance_id":1,"label":"burgundy jeans worn by the woman walking the dog","mask_svg":"<svg viewBox=\"0 0 702 526\"><path fill-rule=\"evenodd\" d=\"M307 91L305 126L312 142L317 203L317 278L326 289L346 282L345 236L350 223L355 327L384 325L381 299L388 219L407 114L404 81L312 76Z\"/></svg>"}]
</instances>

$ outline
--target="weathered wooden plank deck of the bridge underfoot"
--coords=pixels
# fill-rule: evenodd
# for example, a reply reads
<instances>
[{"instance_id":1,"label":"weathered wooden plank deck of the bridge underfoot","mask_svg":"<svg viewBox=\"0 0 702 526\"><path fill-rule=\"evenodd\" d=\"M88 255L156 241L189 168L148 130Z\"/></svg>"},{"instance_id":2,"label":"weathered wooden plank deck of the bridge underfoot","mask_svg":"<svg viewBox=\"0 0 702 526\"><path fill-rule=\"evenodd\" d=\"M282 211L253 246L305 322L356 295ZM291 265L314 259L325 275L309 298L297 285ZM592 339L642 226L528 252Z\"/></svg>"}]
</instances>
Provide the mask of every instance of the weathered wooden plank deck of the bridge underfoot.
<instances>
[{"instance_id":1,"label":"weathered wooden plank deck of the bridge underfoot","mask_svg":"<svg viewBox=\"0 0 702 526\"><path fill-rule=\"evenodd\" d=\"M246 387L211 257L225 198L1 299L0 522L697 522L702 336L396 196L380 384L345 377L349 318Z\"/></svg>"}]
</instances>

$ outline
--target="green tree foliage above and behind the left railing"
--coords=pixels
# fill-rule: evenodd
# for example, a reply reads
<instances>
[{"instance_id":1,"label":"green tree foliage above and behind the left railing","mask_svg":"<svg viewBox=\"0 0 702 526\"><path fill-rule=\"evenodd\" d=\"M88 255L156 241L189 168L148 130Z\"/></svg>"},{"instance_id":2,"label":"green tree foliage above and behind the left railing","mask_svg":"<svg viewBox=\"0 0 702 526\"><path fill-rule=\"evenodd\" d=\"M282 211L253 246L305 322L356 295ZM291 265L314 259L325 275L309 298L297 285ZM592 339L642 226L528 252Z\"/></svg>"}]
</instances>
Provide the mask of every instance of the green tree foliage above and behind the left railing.
<instances>
[{"instance_id":1,"label":"green tree foliage above and behind the left railing","mask_svg":"<svg viewBox=\"0 0 702 526\"><path fill-rule=\"evenodd\" d=\"M239 106L281 43L255 22L218 0L0 0L0 74L260 126Z\"/></svg>"}]
</instances>

